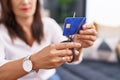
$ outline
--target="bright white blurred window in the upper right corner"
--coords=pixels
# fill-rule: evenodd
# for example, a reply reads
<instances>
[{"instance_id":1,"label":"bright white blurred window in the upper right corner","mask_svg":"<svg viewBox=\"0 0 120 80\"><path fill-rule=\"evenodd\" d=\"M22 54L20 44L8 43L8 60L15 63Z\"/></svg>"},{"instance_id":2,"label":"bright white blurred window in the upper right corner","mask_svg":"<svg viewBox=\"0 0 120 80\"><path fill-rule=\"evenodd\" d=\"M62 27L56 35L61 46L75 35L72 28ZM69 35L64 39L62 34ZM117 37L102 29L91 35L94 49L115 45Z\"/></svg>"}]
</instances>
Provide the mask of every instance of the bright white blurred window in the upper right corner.
<instances>
[{"instance_id":1,"label":"bright white blurred window in the upper right corner","mask_svg":"<svg viewBox=\"0 0 120 80\"><path fill-rule=\"evenodd\" d=\"M87 21L120 25L120 0L87 0Z\"/></svg>"}]
</instances>

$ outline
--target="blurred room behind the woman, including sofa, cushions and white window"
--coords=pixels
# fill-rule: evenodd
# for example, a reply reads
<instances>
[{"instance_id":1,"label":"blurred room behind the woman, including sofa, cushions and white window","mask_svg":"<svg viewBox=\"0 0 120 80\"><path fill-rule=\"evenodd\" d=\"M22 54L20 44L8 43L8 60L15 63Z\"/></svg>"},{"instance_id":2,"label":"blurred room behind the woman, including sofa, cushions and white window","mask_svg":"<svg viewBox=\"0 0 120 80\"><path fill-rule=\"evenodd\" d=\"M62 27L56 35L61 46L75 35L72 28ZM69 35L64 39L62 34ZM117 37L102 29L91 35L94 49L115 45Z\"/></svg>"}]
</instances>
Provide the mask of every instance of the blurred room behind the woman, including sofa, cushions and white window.
<instances>
[{"instance_id":1,"label":"blurred room behind the woman, including sofa, cushions and white window","mask_svg":"<svg viewBox=\"0 0 120 80\"><path fill-rule=\"evenodd\" d=\"M61 27L66 17L86 17L98 31L94 45L83 49L78 65L57 69L62 80L120 80L120 0L43 0L43 13Z\"/></svg>"}]
</instances>

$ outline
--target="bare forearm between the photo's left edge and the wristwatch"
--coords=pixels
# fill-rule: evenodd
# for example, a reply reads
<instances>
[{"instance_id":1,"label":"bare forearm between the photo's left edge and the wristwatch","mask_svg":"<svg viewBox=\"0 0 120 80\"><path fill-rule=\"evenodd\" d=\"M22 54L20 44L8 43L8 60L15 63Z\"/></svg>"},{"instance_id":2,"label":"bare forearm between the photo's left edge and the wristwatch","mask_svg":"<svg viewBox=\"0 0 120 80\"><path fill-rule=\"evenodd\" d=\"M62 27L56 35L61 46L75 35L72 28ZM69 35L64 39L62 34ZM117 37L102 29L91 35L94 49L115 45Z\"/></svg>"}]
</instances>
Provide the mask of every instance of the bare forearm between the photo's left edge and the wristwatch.
<instances>
[{"instance_id":1,"label":"bare forearm between the photo's left edge and the wristwatch","mask_svg":"<svg viewBox=\"0 0 120 80\"><path fill-rule=\"evenodd\" d=\"M27 74L22 68L23 58L10 61L0 67L0 80L17 80Z\"/></svg>"}]
</instances>

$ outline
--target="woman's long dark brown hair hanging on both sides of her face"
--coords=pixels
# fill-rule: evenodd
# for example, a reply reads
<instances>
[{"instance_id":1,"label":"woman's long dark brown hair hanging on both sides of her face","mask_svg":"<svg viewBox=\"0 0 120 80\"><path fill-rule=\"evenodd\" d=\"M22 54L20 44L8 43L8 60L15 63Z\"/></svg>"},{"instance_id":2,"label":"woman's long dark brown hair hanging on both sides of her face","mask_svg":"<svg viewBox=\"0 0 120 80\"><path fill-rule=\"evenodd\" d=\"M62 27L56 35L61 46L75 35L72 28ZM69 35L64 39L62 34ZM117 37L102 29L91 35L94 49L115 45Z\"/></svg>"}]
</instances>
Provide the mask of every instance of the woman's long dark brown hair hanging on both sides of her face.
<instances>
[{"instance_id":1,"label":"woman's long dark brown hair hanging on both sides of her face","mask_svg":"<svg viewBox=\"0 0 120 80\"><path fill-rule=\"evenodd\" d=\"M25 36L25 32L23 31L22 27L20 27L20 25L17 23L15 19L15 15L12 11L11 0L0 0L0 2L1 2L0 23L4 24L5 27L8 29L9 35L12 40L15 37L19 37L28 44L27 38ZM40 43L44 37L44 33L43 33L43 24L40 14L39 0L37 0L36 11L34 14L34 20L32 23L31 32L34 40Z\"/></svg>"}]
</instances>

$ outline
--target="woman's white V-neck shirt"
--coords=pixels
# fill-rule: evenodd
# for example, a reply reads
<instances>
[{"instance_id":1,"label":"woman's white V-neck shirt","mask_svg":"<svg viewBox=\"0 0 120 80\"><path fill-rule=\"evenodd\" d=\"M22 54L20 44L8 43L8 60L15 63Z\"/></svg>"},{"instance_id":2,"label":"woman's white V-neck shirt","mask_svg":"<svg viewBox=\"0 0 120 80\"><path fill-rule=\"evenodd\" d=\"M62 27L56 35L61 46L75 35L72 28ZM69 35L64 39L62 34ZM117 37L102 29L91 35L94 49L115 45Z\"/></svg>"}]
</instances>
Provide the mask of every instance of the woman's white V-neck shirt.
<instances>
[{"instance_id":1,"label":"woman's white V-neck shirt","mask_svg":"<svg viewBox=\"0 0 120 80\"><path fill-rule=\"evenodd\" d=\"M14 43L12 43L7 29L3 24L0 25L0 66L11 60L36 53L49 44L66 40L66 37L62 36L62 29L53 19L43 18L42 21L45 38L40 45L37 42L34 42L32 47L19 38L15 39ZM55 69L40 69L38 73L31 72L18 80L47 80L54 73Z\"/></svg>"}]
</instances>

